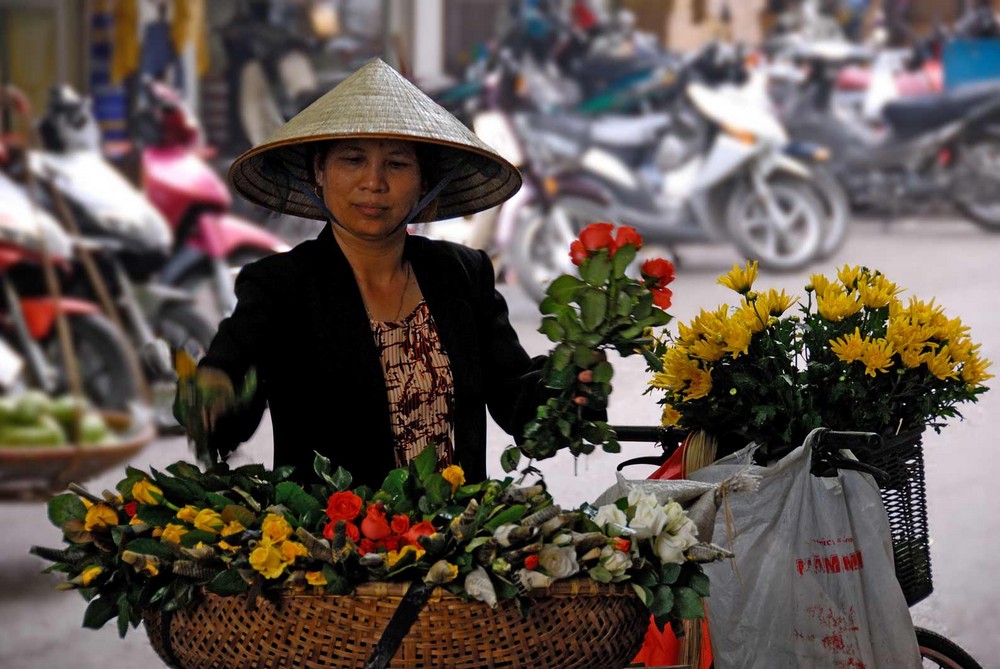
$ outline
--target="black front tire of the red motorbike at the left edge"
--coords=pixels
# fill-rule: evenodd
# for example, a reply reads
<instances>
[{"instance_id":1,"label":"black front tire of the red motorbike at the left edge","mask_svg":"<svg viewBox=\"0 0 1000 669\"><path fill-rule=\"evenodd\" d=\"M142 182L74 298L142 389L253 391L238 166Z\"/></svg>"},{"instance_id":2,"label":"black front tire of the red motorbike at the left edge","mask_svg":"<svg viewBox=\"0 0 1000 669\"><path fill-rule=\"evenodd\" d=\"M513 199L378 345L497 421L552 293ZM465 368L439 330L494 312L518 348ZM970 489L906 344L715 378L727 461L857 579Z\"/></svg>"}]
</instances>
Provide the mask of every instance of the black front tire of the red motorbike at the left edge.
<instances>
[{"instance_id":1,"label":"black front tire of the red motorbike at the left edge","mask_svg":"<svg viewBox=\"0 0 1000 669\"><path fill-rule=\"evenodd\" d=\"M117 328L97 314L68 314L67 321L87 399L99 409L118 411L127 411L130 404L141 401L129 345ZM70 392L58 327L52 328L41 345L57 372L55 393Z\"/></svg>"}]
</instances>

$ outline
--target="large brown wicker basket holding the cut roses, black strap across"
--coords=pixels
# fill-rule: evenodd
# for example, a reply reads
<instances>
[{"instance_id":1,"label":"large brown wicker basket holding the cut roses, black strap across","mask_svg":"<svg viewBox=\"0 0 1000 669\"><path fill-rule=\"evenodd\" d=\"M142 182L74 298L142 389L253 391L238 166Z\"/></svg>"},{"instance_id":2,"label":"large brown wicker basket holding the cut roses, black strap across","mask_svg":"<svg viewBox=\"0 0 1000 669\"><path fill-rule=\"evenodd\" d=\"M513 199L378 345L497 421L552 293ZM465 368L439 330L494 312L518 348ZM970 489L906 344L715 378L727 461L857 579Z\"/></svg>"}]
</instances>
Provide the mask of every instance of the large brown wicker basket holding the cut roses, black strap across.
<instances>
[{"instance_id":1,"label":"large brown wicker basket holding the cut roses, black strap across","mask_svg":"<svg viewBox=\"0 0 1000 669\"><path fill-rule=\"evenodd\" d=\"M146 632L175 669L359 669L407 584L368 583L351 596L260 598L208 594L173 615L150 612ZM496 609L435 590L403 639L392 668L616 669L635 657L649 611L628 586L559 581L532 596L525 618L514 602Z\"/></svg>"}]
</instances>

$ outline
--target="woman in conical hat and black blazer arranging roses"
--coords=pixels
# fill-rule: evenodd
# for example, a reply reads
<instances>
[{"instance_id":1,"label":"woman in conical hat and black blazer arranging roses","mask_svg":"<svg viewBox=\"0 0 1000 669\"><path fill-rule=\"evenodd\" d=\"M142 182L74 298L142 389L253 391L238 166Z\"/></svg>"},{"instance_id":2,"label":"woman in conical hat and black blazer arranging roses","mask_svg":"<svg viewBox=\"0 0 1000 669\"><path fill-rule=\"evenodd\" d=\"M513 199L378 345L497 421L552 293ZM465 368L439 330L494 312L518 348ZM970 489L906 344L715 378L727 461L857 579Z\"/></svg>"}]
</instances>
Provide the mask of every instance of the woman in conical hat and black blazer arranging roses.
<instances>
[{"instance_id":1,"label":"woman in conical hat and black blazer arranging roses","mask_svg":"<svg viewBox=\"0 0 1000 669\"><path fill-rule=\"evenodd\" d=\"M544 401L542 360L521 348L485 253L406 225L496 206L520 187L517 170L373 60L229 176L251 201L327 225L240 273L199 379L231 397L253 367L257 392L213 412L214 446L248 439L267 403L274 464L300 479L316 451L378 486L428 444L441 466L484 479L485 409L520 435Z\"/></svg>"}]
</instances>

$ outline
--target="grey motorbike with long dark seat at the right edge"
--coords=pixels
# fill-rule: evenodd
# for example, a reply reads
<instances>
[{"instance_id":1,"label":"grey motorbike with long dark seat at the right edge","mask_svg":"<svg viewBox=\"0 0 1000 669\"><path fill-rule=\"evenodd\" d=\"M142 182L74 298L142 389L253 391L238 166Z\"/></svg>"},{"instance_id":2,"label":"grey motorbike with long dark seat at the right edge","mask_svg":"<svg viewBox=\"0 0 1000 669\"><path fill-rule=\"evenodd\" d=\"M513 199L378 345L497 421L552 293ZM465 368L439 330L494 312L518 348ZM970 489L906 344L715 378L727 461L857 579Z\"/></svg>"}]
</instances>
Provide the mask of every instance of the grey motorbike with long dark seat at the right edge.
<instances>
[{"instance_id":1,"label":"grey motorbike with long dark seat at the right edge","mask_svg":"<svg viewBox=\"0 0 1000 669\"><path fill-rule=\"evenodd\" d=\"M936 95L900 99L882 114L877 134L845 121L831 104L844 65L828 50L803 47L806 80L786 101L793 137L830 147L831 168L852 204L892 217L939 201L1000 231L1000 84L970 84Z\"/></svg>"}]
</instances>

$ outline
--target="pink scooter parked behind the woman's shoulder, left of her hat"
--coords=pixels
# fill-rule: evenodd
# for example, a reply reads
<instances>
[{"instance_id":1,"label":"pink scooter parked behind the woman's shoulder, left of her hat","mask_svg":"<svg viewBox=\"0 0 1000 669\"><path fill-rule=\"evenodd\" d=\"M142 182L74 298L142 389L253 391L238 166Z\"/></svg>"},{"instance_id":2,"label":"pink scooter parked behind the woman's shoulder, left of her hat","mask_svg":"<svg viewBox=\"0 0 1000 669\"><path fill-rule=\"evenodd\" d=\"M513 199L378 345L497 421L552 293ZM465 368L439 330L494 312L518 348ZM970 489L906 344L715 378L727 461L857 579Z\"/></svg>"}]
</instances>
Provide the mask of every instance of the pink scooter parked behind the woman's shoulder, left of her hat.
<instances>
[{"instance_id":1,"label":"pink scooter parked behind the woman's shoulder, left of her hat","mask_svg":"<svg viewBox=\"0 0 1000 669\"><path fill-rule=\"evenodd\" d=\"M175 239L160 278L199 297L209 292L207 307L221 318L236 306L233 281L240 268L289 245L230 212L232 196L206 160L213 150L204 145L197 120L177 92L148 81L144 93L145 106L135 119L142 187Z\"/></svg>"}]
</instances>

